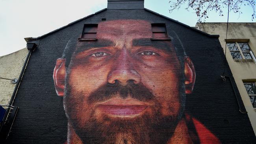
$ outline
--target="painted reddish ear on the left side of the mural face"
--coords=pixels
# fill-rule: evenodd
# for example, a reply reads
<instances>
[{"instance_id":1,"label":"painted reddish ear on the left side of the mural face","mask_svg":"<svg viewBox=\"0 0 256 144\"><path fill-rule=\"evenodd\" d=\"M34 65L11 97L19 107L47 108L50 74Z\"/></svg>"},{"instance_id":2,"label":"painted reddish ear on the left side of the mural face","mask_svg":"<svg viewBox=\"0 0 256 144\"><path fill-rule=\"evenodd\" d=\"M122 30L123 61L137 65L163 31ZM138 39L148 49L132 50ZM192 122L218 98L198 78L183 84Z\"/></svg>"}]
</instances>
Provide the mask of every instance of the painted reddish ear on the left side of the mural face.
<instances>
[{"instance_id":1,"label":"painted reddish ear on the left side of the mural face","mask_svg":"<svg viewBox=\"0 0 256 144\"><path fill-rule=\"evenodd\" d=\"M53 79L55 90L58 96L63 96L64 86L65 86L65 76L66 76L66 59L59 58L56 60L56 65L53 71Z\"/></svg>"}]
</instances>

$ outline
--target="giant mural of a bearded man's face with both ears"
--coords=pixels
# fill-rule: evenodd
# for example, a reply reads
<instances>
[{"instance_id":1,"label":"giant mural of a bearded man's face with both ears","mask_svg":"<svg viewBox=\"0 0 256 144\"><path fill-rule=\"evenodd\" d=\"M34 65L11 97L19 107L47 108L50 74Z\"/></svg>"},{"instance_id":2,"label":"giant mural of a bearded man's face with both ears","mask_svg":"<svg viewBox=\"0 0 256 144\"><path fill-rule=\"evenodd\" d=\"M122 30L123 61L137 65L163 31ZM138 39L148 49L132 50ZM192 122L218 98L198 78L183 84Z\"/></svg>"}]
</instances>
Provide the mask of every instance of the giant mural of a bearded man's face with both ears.
<instances>
[{"instance_id":1,"label":"giant mural of a bearded man's face with both ears","mask_svg":"<svg viewBox=\"0 0 256 144\"><path fill-rule=\"evenodd\" d=\"M83 143L162 144L173 136L195 71L171 41L150 38L148 21L100 22L98 41L79 41L68 68L57 60L56 92Z\"/></svg>"}]
</instances>

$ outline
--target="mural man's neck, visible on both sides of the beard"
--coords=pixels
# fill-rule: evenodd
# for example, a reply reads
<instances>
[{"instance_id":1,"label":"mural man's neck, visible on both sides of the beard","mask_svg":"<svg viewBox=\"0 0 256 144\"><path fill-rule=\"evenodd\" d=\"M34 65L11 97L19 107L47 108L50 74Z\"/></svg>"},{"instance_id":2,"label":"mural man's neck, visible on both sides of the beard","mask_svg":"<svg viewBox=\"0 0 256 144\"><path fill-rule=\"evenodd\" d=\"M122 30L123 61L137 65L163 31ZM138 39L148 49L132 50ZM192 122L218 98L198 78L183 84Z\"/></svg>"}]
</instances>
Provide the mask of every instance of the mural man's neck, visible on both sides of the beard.
<instances>
[{"instance_id":1,"label":"mural man's neck, visible on both sides of the beard","mask_svg":"<svg viewBox=\"0 0 256 144\"><path fill-rule=\"evenodd\" d=\"M83 144L70 124L68 124L67 144ZM173 137L168 140L167 144L193 144L184 118L178 123Z\"/></svg>"}]
</instances>

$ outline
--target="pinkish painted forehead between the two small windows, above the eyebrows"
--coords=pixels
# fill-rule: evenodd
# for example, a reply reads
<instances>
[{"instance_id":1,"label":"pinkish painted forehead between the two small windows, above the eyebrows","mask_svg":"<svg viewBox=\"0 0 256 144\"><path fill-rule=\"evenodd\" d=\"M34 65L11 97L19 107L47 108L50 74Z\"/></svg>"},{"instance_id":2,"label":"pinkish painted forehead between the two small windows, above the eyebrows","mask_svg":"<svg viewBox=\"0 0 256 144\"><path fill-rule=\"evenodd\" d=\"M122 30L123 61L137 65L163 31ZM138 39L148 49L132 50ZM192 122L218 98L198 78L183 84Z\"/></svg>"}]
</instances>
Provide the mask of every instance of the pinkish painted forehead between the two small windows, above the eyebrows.
<instances>
[{"instance_id":1,"label":"pinkish painted forehead between the two small windows, above the eyebrows","mask_svg":"<svg viewBox=\"0 0 256 144\"><path fill-rule=\"evenodd\" d=\"M150 38L151 23L145 20L111 20L98 24L98 39L115 38Z\"/></svg>"}]
</instances>

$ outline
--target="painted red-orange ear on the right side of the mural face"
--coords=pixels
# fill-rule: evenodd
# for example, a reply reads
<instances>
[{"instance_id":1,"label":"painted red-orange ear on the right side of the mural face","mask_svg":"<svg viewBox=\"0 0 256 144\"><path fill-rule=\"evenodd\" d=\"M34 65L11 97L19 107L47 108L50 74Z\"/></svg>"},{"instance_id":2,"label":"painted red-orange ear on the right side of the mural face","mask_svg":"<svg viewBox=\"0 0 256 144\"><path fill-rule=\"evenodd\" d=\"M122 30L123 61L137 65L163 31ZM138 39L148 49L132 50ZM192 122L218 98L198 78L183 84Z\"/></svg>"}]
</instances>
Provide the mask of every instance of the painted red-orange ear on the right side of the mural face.
<instances>
[{"instance_id":1,"label":"painted red-orange ear on the right side of the mural face","mask_svg":"<svg viewBox=\"0 0 256 144\"><path fill-rule=\"evenodd\" d=\"M191 59L187 56L184 57L184 74L185 74L185 92L191 94L195 84L195 68Z\"/></svg>"}]
</instances>

